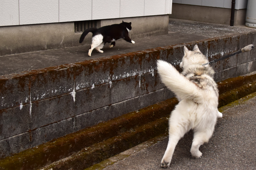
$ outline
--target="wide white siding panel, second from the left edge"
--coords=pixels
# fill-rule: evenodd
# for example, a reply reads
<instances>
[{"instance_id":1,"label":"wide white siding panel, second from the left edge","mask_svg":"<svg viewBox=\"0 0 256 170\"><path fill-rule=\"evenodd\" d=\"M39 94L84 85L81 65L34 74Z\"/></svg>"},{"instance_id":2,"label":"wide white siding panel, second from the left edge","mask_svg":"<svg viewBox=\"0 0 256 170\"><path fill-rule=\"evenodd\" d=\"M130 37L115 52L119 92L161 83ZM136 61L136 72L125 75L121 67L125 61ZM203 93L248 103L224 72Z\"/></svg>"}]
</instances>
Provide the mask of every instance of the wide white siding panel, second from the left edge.
<instances>
[{"instance_id":1,"label":"wide white siding panel, second from the left edge","mask_svg":"<svg viewBox=\"0 0 256 170\"><path fill-rule=\"evenodd\" d=\"M59 0L19 0L20 25L59 22Z\"/></svg>"}]
</instances>

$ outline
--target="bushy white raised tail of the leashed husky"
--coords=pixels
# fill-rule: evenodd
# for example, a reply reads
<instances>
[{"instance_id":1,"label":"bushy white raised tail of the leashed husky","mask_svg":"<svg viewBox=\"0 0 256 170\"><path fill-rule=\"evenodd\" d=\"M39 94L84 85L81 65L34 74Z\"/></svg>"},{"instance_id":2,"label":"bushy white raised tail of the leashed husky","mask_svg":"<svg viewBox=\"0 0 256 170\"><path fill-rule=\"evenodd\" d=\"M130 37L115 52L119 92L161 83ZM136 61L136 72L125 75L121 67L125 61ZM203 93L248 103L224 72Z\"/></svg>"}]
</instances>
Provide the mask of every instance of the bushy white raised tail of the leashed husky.
<instances>
[{"instance_id":1,"label":"bushy white raised tail of the leashed husky","mask_svg":"<svg viewBox=\"0 0 256 170\"><path fill-rule=\"evenodd\" d=\"M158 60L157 71L163 84L179 99L193 99L199 103L202 101L203 94L199 87L180 74L171 64Z\"/></svg>"}]
</instances>

